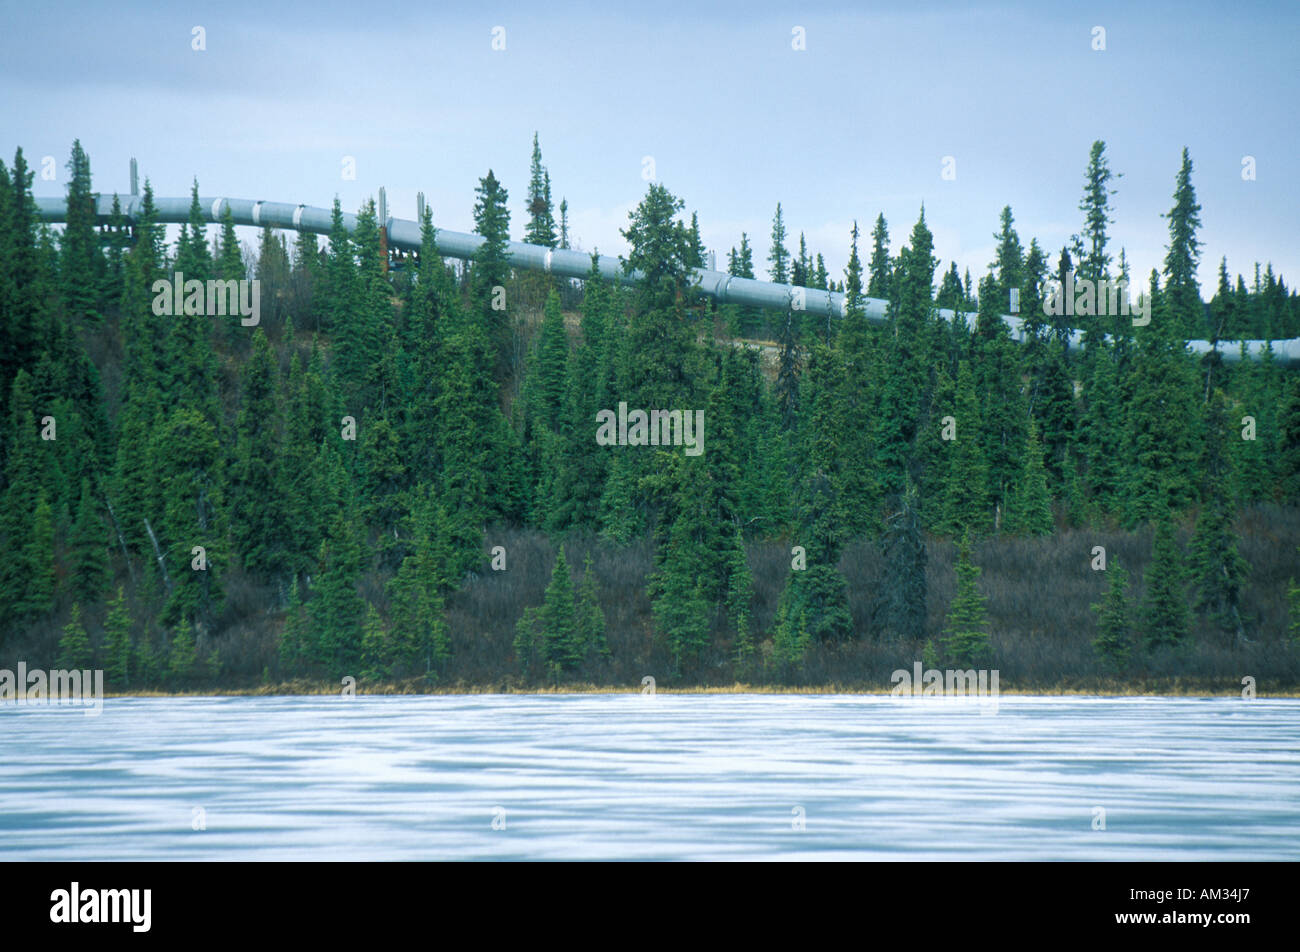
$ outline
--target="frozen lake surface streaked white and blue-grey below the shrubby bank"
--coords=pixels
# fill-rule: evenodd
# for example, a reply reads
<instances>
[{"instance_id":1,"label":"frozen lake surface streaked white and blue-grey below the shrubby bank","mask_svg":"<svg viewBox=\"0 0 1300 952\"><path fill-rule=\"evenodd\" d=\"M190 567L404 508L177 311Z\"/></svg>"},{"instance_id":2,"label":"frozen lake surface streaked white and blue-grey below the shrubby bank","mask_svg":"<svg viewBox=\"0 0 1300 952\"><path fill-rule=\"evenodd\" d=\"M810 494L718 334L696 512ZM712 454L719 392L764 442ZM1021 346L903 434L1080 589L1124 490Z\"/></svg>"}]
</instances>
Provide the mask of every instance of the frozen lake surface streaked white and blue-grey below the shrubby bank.
<instances>
[{"instance_id":1,"label":"frozen lake surface streaked white and blue-grey below the shrubby bank","mask_svg":"<svg viewBox=\"0 0 1300 952\"><path fill-rule=\"evenodd\" d=\"M109 698L0 758L0 860L1300 858L1295 700Z\"/></svg>"}]
</instances>

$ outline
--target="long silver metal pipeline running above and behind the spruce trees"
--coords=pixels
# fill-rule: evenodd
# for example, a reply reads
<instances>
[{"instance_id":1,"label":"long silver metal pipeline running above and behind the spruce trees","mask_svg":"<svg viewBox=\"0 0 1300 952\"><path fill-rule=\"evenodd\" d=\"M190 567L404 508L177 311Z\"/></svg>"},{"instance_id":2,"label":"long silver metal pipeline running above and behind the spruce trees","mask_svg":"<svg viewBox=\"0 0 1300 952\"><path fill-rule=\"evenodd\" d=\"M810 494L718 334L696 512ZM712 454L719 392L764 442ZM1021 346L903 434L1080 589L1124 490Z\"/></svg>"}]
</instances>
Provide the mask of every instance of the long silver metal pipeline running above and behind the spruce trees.
<instances>
[{"instance_id":1,"label":"long silver metal pipeline running above and behind the spruce trees","mask_svg":"<svg viewBox=\"0 0 1300 952\"><path fill-rule=\"evenodd\" d=\"M113 195L99 195L96 215L99 224L105 224L112 216ZM127 224L134 224L143 209L144 198L142 195L117 195L122 218ZM190 220L190 198L155 198L155 220L159 224L183 224ZM386 215L386 203L384 203ZM250 199L231 198L200 198L199 207L204 220L220 224L225 209L230 208L230 217L237 225L252 225L255 228L270 226L287 231L311 231L315 234L329 234L333 211L317 208L315 205L287 204L283 202L254 202ZM68 220L68 200L65 198L38 198L36 215L42 221L58 222ZM420 222L408 218L386 217L378 222L387 234L390 248L403 251L420 250ZM348 234L356 231L356 215L343 212L343 228ZM476 234L464 231L437 230L438 254L443 258L473 259L478 255L478 248L484 239ZM510 242L507 254L511 265L526 271L543 271L566 278L585 278L592 273L592 255L585 251L572 248L547 248L541 245L525 245L524 242ZM597 272L601 277L612 282L634 285L641 278L640 272L625 274L623 264L618 258L599 255L595 260ZM846 310L845 294L841 291L822 291L810 287L794 287L793 285L779 285L771 281L758 281L757 278L733 277L722 271L706 271L696 268L696 284L699 290L716 299L719 303L744 304L748 307L760 307L767 310L785 311L794 310L812 315L844 316ZM862 307L867 320L883 323L888 302L879 298L863 298ZM958 319L958 313L948 308L937 308L939 315L948 321ZM962 316L967 323L974 315ZM1002 315L1002 320L1010 328L1011 337L1017 341L1024 339L1020 319L1011 315ZM1247 356L1258 360L1268 346L1266 341L1219 341L1219 356L1226 363L1235 363L1242 356L1242 345L1245 343ZM1083 332L1075 330L1066 342L1070 350L1079 350L1083 346ZM1209 341L1188 341L1187 347L1193 354L1208 354L1212 347ZM1283 365L1300 365L1300 338L1286 341L1273 341L1274 359Z\"/></svg>"}]
</instances>

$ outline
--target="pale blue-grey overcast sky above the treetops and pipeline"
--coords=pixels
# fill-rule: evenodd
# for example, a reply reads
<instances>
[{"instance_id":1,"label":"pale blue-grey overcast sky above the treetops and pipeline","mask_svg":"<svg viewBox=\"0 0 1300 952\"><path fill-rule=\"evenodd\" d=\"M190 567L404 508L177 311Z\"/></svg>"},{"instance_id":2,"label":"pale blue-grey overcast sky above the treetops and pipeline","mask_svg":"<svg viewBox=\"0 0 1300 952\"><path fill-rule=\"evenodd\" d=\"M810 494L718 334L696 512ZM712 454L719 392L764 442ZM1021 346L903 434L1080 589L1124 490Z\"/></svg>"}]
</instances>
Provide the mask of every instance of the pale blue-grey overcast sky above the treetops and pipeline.
<instances>
[{"instance_id":1,"label":"pale blue-grey overcast sky above the treetops and pipeline","mask_svg":"<svg viewBox=\"0 0 1300 952\"><path fill-rule=\"evenodd\" d=\"M792 250L802 230L840 277L854 218L866 234L884 212L897 251L924 203L941 268L978 281L1002 205L1053 260L1080 229L1093 139L1123 173L1113 254L1124 246L1147 274L1187 146L1206 295L1221 255L1248 282L1256 260L1288 285L1300 273L1295 3L439 7L5 0L0 148L8 163L22 146L38 195L62 194L79 138L99 191L126 191L136 156L159 195L196 176L204 195L337 194L356 211L386 186L390 213L413 218L424 190L434 222L464 231L491 168L520 238L536 130L577 247L627 250L619 229L651 156L719 267L741 231L766 267L780 200ZM57 181L40 179L46 155Z\"/></svg>"}]
</instances>

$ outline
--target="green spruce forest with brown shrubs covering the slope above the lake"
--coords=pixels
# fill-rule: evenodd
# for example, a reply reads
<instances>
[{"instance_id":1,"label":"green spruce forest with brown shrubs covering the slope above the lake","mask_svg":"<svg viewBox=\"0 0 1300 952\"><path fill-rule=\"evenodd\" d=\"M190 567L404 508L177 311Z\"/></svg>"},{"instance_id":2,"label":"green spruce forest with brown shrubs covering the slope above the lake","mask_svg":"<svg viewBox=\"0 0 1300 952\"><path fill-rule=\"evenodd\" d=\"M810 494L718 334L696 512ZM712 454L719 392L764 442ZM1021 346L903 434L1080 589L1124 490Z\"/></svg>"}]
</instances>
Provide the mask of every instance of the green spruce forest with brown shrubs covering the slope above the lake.
<instances>
[{"instance_id":1,"label":"green spruce forest with brown shrubs covering the slope above the lake","mask_svg":"<svg viewBox=\"0 0 1300 952\"><path fill-rule=\"evenodd\" d=\"M699 295L698 217L658 181L623 230L637 282L512 268L521 230L568 247L536 135L528 221L489 169L473 261L428 207L420 252L390 254L373 200L252 248L198 182L169 233L146 178L135 221L99 221L79 142L51 229L20 150L0 668L126 696L889 693L916 661L1008 694L1300 691L1300 372L1186 347L1300 337L1300 294L1226 259L1202 293L1191 156L1169 160L1149 276L1108 235L1102 142L1080 233L1022 242L1006 205L984 274L933 255L924 207L893 239L855 221L842 280L779 203L770 239L736 235L732 276L766 258L792 302L844 293L833 317ZM207 280L255 282L251 323Z\"/></svg>"}]
</instances>

